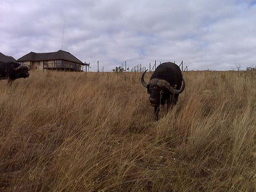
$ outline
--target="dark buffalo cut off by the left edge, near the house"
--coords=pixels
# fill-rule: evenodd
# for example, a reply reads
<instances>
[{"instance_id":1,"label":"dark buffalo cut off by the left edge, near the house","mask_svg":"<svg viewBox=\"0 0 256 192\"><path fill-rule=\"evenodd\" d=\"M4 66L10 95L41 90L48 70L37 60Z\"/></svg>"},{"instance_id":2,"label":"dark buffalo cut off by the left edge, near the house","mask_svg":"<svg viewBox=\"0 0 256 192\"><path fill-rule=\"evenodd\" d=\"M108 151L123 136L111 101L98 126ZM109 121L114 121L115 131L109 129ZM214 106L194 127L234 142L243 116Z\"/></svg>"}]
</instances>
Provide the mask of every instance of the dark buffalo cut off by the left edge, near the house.
<instances>
[{"instance_id":1,"label":"dark buffalo cut off by the left edge, near the house","mask_svg":"<svg viewBox=\"0 0 256 192\"><path fill-rule=\"evenodd\" d=\"M0 80L7 79L8 82L12 82L18 78L28 78L29 70L28 66L16 62L0 62Z\"/></svg>"}]
</instances>

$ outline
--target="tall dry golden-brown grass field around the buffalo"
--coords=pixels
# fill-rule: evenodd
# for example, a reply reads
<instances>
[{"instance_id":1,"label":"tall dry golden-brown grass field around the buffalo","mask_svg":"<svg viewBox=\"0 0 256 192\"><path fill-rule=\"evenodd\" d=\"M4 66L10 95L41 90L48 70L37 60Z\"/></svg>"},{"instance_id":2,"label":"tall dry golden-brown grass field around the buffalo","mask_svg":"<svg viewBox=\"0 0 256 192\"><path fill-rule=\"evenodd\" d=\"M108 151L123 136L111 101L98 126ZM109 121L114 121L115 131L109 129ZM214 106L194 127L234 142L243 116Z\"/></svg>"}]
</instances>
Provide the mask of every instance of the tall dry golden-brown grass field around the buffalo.
<instances>
[{"instance_id":1,"label":"tall dry golden-brown grass field around the buffalo","mask_svg":"<svg viewBox=\"0 0 256 192\"><path fill-rule=\"evenodd\" d=\"M157 122L142 73L30 74L0 81L0 191L256 191L254 71L184 73Z\"/></svg>"}]
</instances>

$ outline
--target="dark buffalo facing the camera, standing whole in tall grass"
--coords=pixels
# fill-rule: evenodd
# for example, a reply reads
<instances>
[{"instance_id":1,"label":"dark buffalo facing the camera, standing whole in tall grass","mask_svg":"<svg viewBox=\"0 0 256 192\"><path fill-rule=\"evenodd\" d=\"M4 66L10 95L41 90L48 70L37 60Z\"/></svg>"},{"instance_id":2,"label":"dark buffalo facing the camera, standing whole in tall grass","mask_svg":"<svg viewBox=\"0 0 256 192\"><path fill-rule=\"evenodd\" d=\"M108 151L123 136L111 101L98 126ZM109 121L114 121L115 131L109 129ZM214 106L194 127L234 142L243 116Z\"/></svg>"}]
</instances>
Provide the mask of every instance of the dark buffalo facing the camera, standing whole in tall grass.
<instances>
[{"instance_id":1,"label":"dark buffalo facing the camera, standing whole in tall grass","mask_svg":"<svg viewBox=\"0 0 256 192\"><path fill-rule=\"evenodd\" d=\"M146 70L147 71L147 70ZM148 89L150 103L154 106L154 120L158 121L159 106L167 103L167 111L178 101L178 94L183 92L185 81L182 71L175 63L166 62L159 65L146 84L142 74L142 85Z\"/></svg>"}]
</instances>

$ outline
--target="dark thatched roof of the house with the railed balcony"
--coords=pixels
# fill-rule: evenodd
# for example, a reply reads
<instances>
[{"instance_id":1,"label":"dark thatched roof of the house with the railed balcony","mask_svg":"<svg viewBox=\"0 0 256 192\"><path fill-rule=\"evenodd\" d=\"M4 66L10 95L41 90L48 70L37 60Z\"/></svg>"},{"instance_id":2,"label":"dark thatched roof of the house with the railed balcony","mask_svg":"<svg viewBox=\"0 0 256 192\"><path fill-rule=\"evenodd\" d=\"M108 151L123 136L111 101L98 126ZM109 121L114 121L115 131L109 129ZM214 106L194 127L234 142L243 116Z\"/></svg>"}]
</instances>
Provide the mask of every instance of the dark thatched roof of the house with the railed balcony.
<instances>
[{"instance_id":1,"label":"dark thatched roof of the house with the railed balcony","mask_svg":"<svg viewBox=\"0 0 256 192\"><path fill-rule=\"evenodd\" d=\"M39 61L47 61L47 60L67 60L70 62L81 63L81 60L74 57L74 55L70 54L70 52L66 52L64 50L58 50L57 52L49 52L49 53L35 53L30 52L29 54L24 55L23 57L18 58L18 62L39 62Z\"/></svg>"}]
</instances>

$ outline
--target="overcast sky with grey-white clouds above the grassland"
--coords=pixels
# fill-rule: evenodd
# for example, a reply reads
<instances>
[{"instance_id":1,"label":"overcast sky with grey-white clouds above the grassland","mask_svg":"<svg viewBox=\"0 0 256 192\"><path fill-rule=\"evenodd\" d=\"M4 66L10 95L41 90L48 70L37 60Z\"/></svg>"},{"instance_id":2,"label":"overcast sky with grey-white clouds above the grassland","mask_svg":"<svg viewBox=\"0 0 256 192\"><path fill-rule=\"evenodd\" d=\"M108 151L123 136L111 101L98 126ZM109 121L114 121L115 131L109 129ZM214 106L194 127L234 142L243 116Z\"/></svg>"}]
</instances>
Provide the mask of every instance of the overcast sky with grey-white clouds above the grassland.
<instances>
[{"instance_id":1,"label":"overcast sky with grey-white clouds above the grassland","mask_svg":"<svg viewBox=\"0 0 256 192\"><path fill-rule=\"evenodd\" d=\"M92 71L97 61L104 71L125 61L132 68L183 60L188 70L256 65L255 0L1 0L0 22L0 52L15 59L62 49Z\"/></svg>"}]
</instances>

